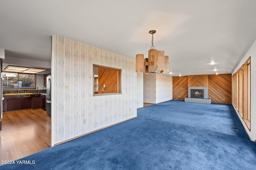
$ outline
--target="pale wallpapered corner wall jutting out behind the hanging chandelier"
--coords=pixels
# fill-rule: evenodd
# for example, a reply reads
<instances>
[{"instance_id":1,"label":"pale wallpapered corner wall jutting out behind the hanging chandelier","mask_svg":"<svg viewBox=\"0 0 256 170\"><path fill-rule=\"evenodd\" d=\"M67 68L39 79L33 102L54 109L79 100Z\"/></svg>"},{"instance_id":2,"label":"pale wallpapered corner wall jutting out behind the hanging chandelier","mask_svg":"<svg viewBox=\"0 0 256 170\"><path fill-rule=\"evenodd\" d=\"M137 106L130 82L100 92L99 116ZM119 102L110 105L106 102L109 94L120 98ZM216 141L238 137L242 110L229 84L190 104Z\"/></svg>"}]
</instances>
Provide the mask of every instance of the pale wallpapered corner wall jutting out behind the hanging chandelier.
<instances>
[{"instance_id":1,"label":"pale wallpapered corner wall jutting out behind the hanging chandelier","mask_svg":"<svg viewBox=\"0 0 256 170\"><path fill-rule=\"evenodd\" d=\"M144 74L144 103L158 104L172 100L172 76Z\"/></svg>"}]
</instances>

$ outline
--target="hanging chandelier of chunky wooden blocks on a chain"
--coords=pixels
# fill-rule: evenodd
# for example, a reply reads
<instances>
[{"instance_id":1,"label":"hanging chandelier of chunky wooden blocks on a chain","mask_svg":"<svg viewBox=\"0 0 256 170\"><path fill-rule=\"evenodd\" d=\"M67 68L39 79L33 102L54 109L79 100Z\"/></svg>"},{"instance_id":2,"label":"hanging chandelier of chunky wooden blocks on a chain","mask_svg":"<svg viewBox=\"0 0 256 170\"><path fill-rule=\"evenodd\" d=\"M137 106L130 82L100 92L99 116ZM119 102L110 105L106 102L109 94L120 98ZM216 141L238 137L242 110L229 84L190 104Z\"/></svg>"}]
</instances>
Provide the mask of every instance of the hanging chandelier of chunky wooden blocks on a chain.
<instances>
[{"instance_id":1,"label":"hanging chandelier of chunky wooden blocks on a chain","mask_svg":"<svg viewBox=\"0 0 256 170\"><path fill-rule=\"evenodd\" d=\"M148 51L148 58L144 59L144 54L136 55L136 72L144 72L144 74L150 74L150 72L160 71L161 73L169 72L169 56L164 55L164 51L156 50L153 44L153 34L156 30L150 30L152 34L152 46Z\"/></svg>"}]
</instances>

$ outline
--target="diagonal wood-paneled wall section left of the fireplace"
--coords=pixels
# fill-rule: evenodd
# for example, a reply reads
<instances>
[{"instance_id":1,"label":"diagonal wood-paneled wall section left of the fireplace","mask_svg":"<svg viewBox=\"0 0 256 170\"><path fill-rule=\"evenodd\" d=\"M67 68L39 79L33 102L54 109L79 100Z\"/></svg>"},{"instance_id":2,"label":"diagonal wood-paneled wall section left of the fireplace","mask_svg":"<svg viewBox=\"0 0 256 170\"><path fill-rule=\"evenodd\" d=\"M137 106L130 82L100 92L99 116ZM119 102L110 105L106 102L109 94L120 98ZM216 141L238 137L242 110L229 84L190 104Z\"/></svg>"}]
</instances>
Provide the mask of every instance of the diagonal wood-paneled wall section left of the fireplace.
<instances>
[{"instance_id":1,"label":"diagonal wood-paneled wall section left of the fireplace","mask_svg":"<svg viewBox=\"0 0 256 170\"><path fill-rule=\"evenodd\" d=\"M172 99L188 98L188 76L172 77Z\"/></svg>"}]
</instances>

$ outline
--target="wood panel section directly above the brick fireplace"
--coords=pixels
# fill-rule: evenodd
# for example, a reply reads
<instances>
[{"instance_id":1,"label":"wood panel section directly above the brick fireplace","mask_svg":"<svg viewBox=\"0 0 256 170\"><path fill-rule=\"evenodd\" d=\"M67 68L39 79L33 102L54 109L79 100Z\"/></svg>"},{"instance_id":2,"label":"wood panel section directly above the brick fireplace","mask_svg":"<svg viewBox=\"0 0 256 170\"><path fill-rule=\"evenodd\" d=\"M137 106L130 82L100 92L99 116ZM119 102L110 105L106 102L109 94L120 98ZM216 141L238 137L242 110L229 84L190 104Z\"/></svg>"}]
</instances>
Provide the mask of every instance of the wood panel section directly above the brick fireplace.
<instances>
[{"instance_id":1,"label":"wood panel section directly above the brick fireplace","mask_svg":"<svg viewBox=\"0 0 256 170\"><path fill-rule=\"evenodd\" d=\"M188 76L188 87L207 87L208 75Z\"/></svg>"}]
</instances>

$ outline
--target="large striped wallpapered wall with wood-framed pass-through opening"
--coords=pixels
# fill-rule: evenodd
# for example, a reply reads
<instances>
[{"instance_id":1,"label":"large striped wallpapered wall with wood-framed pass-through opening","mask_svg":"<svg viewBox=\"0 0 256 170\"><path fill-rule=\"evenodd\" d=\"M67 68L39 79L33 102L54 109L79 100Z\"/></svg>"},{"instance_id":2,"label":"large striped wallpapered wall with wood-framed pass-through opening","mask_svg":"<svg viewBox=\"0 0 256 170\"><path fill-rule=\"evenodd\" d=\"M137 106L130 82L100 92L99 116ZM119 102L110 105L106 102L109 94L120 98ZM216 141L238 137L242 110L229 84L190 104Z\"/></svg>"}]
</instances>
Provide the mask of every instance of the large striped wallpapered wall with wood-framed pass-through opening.
<instances>
[{"instance_id":1,"label":"large striped wallpapered wall with wood-framed pass-through opening","mask_svg":"<svg viewBox=\"0 0 256 170\"><path fill-rule=\"evenodd\" d=\"M54 144L136 117L135 59L59 35L52 41ZM122 94L92 96L92 64L122 69Z\"/></svg>"}]
</instances>

